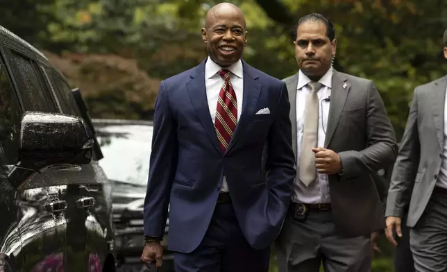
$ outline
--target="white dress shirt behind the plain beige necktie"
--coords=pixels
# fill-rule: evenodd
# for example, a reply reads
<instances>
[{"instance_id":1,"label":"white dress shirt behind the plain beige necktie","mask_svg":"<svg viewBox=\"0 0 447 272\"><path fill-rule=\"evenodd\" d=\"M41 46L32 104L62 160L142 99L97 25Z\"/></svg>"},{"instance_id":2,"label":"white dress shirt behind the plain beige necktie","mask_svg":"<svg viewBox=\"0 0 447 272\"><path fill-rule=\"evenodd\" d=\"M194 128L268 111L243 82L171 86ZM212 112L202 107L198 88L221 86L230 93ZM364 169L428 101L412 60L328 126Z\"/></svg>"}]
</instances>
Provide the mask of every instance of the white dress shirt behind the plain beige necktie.
<instances>
[{"instance_id":1,"label":"white dress shirt behind the plain beige necktie","mask_svg":"<svg viewBox=\"0 0 447 272\"><path fill-rule=\"evenodd\" d=\"M304 128L304 110L306 96L310 92L307 83L310 80L303 72L298 71L298 86L296 86L296 178L294 183L294 196L292 201L295 203L330 203L329 180L326 174L317 174L317 180L314 180L309 187L306 187L299 178L299 161L301 157L301 148L303 142ZM323 84L318 90L319 114L318 114L318 146L324 146L326 131L328 130L328 115L330 101L330 91L332 89L332 68L319 80Z\"/></svg>"}]
</instances>

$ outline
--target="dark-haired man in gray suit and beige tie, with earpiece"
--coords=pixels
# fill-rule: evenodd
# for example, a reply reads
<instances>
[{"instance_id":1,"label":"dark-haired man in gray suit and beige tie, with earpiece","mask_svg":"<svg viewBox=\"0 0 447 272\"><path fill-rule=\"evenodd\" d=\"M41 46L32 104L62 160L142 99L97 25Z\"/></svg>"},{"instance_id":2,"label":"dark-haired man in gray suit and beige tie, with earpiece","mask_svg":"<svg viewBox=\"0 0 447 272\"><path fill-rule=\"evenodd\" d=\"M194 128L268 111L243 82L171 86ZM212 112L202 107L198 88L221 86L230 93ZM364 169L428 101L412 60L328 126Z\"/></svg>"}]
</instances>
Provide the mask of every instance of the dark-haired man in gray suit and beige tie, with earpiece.
<instances>
[{"instance_id":1,"label":"dark-haired man in gray suit and beige tie, with earpiece","mask_svg":"<svg viewBox=\"0 0 447 272\"><path fill-rule=\"evenodd\" d=\"M276 241L280 272L369 271L385 214L371 174L396 159L394 130L371 80L332 69L329 19L301 18L299 71L285 78L297 160L292 205Z\"/></svg>"}]
</instances>

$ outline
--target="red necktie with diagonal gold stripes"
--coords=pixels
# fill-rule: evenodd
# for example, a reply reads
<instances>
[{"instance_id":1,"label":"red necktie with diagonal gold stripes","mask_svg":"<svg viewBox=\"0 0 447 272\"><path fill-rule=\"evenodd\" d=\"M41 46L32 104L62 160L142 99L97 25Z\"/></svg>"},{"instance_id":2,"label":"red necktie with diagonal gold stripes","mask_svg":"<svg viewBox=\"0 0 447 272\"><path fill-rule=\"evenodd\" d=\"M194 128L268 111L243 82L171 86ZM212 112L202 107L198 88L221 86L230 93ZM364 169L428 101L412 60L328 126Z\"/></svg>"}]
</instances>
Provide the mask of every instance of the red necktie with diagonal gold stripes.
<instances>
[{"instance_id":1,"label":"red necktie with diagonal gold stripes","mask_svg":"<svg viewBox=\"0 0 447 272\"><path fill-rule=\"evenodd\" d=\"M219 75L225 80L225 83L223 83L219 92L216 119L214 120L217 139L223 153L225 153L237 125L237 99L235 90L230 82L230 74L231 72L227 69L219 71Z\"/></svg>"}]
</instances>

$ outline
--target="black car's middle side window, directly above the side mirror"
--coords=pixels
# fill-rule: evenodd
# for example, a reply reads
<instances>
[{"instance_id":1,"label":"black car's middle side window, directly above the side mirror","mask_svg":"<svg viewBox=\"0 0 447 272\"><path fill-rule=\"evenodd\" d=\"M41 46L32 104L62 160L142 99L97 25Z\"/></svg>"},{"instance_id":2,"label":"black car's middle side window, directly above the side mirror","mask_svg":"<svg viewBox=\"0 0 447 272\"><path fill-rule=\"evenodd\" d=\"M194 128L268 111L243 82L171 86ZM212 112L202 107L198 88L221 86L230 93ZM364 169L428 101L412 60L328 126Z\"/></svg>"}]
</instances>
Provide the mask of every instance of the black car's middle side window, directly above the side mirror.
<instances>
[{"instance_id":1,"label":"black car's middle side window, directly above the side mirror","mask_svg":"<svg viewBox=\"0 0 447 272\"><path fill-rule=\"evenodd\" d=\"M37 71L31 62L31 59L22 56L15 51L8 54L20 97L26 110L35 110L42 112L56 112L56 107L52 102L51 96L47 93L40 81Z\"/></svg>"}]
</instances>

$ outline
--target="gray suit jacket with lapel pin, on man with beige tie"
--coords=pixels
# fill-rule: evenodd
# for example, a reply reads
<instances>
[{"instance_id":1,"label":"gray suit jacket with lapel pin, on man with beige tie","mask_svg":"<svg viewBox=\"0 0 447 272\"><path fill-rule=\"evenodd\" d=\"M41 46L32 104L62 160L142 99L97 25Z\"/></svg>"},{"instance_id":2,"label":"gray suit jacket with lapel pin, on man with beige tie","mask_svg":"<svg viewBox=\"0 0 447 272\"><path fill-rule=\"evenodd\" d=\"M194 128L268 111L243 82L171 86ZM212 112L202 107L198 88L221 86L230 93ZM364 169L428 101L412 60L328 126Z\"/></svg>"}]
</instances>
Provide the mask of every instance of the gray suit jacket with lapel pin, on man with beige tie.
<instances>
[{"instance_id":1,"label":"gray suit jacket with lapel pin, on man with beige tie","mask_svg":"<svg viewBox=\"0 0 447 272\"><path fill-rule=\"evenodd\" d=\"M284 81L296 152L298 73ZM398 148L385 105L371 80L334 71L324 147L337 152L343 164L343 175L329 176L332 215L339 232L356 237L385 228L384 209L371 174L393 164Z\"/></svg>"}]
</instances>

